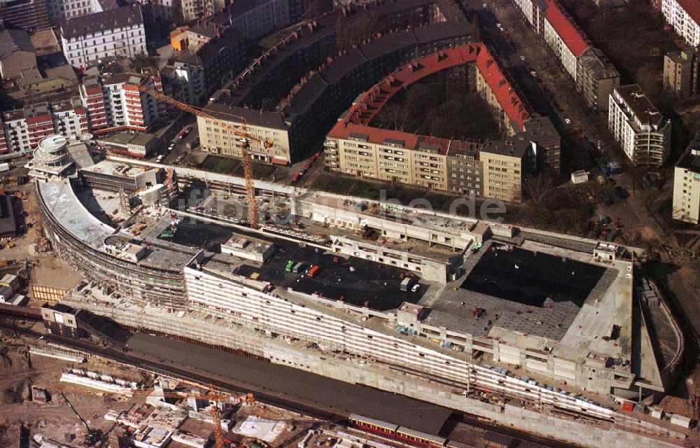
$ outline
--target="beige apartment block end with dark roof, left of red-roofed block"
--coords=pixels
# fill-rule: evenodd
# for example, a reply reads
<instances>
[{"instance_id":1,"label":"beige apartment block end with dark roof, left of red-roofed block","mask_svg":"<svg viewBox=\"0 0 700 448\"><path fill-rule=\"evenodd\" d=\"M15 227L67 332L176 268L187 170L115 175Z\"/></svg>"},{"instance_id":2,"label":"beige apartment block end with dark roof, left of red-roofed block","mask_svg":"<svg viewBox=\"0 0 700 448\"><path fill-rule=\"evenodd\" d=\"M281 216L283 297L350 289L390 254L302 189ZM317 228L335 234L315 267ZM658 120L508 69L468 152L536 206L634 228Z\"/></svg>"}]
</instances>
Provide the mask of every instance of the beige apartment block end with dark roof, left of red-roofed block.
<instances>
[{"instance_id":1,"label":"beige apartment block end with dark roof, left of red-roofed block","mask_svg":"<svg viewBox=\"0 0 700 448\"><path fill-rule=\"evenodd\" d=\"M223 103L210 103L204 112L218 120L197 117L202 151L241 158L245 146L255 160L278 165L290 162L289 125L280 113L255 111ZM237 136L224 127L223 123L246 132L255 140Z\"/></svg>"}]
</instances>

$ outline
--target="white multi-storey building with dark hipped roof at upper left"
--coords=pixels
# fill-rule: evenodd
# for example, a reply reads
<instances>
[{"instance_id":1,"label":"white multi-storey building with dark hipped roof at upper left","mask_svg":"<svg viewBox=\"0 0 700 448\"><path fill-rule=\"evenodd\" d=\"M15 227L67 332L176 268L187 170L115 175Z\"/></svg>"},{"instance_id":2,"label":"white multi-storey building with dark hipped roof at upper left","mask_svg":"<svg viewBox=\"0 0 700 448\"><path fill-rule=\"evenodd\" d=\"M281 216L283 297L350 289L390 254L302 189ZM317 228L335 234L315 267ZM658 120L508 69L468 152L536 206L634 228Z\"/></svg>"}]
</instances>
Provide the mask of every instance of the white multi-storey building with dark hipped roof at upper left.
<instances>
[{"instance_id":1,"label":"white multi-storey building with dark hipped roof at upper left","mask_svg":"<svg viewBox=\"0 0 700 448\"><path fill-rule=\"evenodd\" d=\"M66 20L61 26L63 54L80 69L111 56L145 55L146 29L141 6L124 6Z\"/></svg>"}]
</instances>

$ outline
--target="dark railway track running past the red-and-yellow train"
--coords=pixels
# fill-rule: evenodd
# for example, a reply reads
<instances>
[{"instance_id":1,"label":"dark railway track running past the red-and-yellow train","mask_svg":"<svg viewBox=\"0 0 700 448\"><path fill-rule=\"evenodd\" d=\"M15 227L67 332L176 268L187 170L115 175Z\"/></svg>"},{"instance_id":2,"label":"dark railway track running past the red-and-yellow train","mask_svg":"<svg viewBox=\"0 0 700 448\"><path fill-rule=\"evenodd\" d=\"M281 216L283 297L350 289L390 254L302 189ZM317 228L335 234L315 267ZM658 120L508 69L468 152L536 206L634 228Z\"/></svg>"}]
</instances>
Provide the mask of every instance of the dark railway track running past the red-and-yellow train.
<instances>
[{"instance_id":1,"label":"dark railway track running past the red-and-yellow train","mask_svg":"<svg viewBox=\"0 0 700 448\"><path fill-rule=\"evenodd\" d=\"M16 307L13 307L16 308ZM1 316L14 316L15 318L29 319L32 321L41 321L41 312L36 309L7 309L7 307L0 307L0 317ZM73 350L78 350L83 353L90 354L92 356L99 356L109 360L113 360L118 363L123 363L125 365L131 365L132 367L137 367L139 370L144 370L153 374L159 374L166 377L175 377L178 379L183 379L184 381L190 381L197 384L211 384L215 389L228 393L244 394L253 391L257 400L265 402L267 405L272 405L276 407L281 407L283 409L288 409L289 411L296 412L297 414L303 414L307 416L314 417L316 419L321 419L324 421L329 421L331 423L337 424L339 426L349 427L348 416L344 414L338 414L336 412L329 412L325 409L320 409L318 407L304 405L303 403L289 400L287 398L281 398L279 395L273 395L270 393L265 393L265 391L260 388L251 388L249 386L243 386L241 384L235 384L232 381L226 381L219 379L217 377L202 374L201 372L194 372L193 370L184 369L181 367L175 367L169 363L161 363L159 361L150 360L142 358L140 356L134 356L125 351L120 351L114 348L102 348L90 344L89 342L83 342L78 339L71 339L66 337L60 337L57 335L51 335L44 332L39 332L32 330L30 328L25 328L20 325L13 323L3 322L0 319L0 327L11 328L15 331L30 335L36 338L43 337L50 342L55 342L56 344L61 344L64 346L69 346ZM465 423L475 428L480 428L484 430L490 430L492 432L507 435L508 437L513 437L517 440L527 440L535 444L538 447L549 447L549 448L570 448L571 444L564 444L561 442L556 442L552 440L547 440L543 437L538 437L528 433L522 433L517 430L510 430L509 428L503 428L498 426L496 423L491 423L489 421L484 421L475 416L469 414L463 414L461 412L453 412L454 416L451 418L459 423ZM456 440L459 441L459 440Z\"/></svg>"}]
</instances>

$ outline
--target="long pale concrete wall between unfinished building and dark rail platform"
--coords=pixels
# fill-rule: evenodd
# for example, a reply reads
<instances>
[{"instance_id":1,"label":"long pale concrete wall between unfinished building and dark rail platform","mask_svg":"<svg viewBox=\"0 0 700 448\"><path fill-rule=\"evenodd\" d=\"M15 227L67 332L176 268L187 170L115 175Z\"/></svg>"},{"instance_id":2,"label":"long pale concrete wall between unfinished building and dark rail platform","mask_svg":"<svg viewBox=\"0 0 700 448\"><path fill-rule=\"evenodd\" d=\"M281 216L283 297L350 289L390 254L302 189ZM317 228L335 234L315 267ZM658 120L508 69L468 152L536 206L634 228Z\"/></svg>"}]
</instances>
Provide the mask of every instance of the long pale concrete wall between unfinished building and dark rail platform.
<instances>
[{"instance_id":1,"label":"long pale concrete wall between unfinished building and dark rail platform","mask_svg":"<svg viewBox=\"0 0 700 448\"><path fill-rule=\"evenodd\" d=\"M281 337L266 337L262 332L255 332L228 321L226 325L193 325L190 314L179 318L176 314L151 314L132 309L105 307L104 304L64 300L72 307L87 309L96 314L109 316L118 323L133 328L150 328L157 332L166 332L192 339L204 340L209 344L222 344L230 349L241 349L257 356L268 358L273 363L291 365L295 368L321 374L353 384L365 384L384 391L400 393L412 398L433 402L468 414L490 419L500 425L510 426L530 433L538 433L564 442L582 444L591 448L617 448L624 445L638 447L675 447L677 445L652 439L639 433L626 432L612 427L609 423L600 426L560 419L556 416L535 412L514 405L493 405L479 400L465 398L459 388L449 388L439 384L423 381L408 374L388 370L375 363L367 363L357 358L349 359L345 355L336 356L307 349L304 346L288 344ZM157 311L151 307L151 311ZM196 316L195 316L196 318ZM148 331L148 330L146 330ZM679 440L679 444L680 444Z\"/></svg>"}]
</instances>

